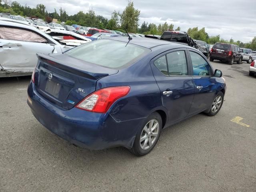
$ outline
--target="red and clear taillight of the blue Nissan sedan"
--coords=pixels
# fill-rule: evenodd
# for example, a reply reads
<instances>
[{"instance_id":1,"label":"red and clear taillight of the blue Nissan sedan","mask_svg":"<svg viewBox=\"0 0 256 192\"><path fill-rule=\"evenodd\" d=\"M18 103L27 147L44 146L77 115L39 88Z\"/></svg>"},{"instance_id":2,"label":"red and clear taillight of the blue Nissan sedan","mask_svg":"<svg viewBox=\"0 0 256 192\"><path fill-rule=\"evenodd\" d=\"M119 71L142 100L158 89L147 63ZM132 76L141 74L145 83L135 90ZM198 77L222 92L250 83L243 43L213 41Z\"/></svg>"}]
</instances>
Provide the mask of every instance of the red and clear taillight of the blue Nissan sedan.
<instances>
[{"instance_id":1,"label":"red and clear taillight of the blue Nissan sedan","mask_svg":"<svg viewBox=\"0 0 256 192\"><path fill-rule=\"evenodd\" d=\"M106 113L116 100L126 96L129 92L129 86L103 88L88 95L75 107L96 113Z\"/></svg>"}]
</instances>

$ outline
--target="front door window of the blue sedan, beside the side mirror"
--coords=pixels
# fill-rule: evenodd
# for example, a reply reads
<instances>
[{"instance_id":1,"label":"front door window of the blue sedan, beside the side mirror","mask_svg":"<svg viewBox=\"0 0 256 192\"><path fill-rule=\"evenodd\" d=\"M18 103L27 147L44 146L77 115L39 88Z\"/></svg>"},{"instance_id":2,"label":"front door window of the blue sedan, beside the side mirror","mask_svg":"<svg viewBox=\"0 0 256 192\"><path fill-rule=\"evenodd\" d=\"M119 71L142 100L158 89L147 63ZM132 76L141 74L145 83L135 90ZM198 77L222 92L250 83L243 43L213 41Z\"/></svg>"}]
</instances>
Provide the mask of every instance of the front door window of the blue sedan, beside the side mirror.
<instances>
[{"instance_id":1,"label":"front door window of the blue sedan, beside the side mirror","mask_svg":"<svg viewBox=\"0 0 256 192\"><path fill-rule=\"evenodd\" d=\"M190 51L189 53L193 66L193 76L210 76L211 68L206 60L195 52Z\"/></svg>"}]
</instances>

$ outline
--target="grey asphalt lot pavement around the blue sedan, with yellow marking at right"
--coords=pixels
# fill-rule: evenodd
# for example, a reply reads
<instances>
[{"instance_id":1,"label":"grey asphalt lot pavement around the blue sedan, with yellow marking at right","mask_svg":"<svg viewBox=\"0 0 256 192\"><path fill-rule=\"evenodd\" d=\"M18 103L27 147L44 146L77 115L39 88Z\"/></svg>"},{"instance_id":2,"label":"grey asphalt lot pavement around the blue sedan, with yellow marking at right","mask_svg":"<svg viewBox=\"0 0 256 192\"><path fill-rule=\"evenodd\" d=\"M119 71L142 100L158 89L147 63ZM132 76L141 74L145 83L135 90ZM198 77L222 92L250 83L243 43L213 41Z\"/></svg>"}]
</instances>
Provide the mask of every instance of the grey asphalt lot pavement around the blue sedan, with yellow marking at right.
<instances>
[{"instance_id":1,"label":"grey asphalt lot pavement around the blue sedan, with yellow marking at right","mask_svg":"<svg viewBox=\"0 0 256 192\"><path fill-rule=\"evenodd\" d=\"M211 63L227 84L220 112L166 128L140 158L62 140L30 112L30 77L0 78L0 191L256 192L256 77Z\"/></svg>"}]
</instances>

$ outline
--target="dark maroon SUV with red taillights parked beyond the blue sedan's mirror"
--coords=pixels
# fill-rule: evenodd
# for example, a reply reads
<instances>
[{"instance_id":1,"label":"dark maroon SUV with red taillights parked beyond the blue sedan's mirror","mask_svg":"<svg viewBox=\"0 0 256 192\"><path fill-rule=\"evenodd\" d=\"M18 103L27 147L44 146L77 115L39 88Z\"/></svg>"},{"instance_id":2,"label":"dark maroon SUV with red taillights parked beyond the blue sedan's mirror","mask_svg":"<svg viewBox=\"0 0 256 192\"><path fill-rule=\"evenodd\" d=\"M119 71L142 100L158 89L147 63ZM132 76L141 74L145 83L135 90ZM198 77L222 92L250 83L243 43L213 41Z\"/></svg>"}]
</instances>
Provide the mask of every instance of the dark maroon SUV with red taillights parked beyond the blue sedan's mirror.
<instances>
[{"instance_id":1,"label":"dark maroon SUV with red taillights parked beyond the blue sedan's mirror","mask_svg":"<svg viewBox=\"0 0 256 192\"><path fill-rule=\"evenodd\" d=\"M242 62L240 48L237 45L228 43L215 43L210 51L210 61L214 59L226 61L230 65L232 65L234 61L240 64Z\"/></svg>"}]
</instances>

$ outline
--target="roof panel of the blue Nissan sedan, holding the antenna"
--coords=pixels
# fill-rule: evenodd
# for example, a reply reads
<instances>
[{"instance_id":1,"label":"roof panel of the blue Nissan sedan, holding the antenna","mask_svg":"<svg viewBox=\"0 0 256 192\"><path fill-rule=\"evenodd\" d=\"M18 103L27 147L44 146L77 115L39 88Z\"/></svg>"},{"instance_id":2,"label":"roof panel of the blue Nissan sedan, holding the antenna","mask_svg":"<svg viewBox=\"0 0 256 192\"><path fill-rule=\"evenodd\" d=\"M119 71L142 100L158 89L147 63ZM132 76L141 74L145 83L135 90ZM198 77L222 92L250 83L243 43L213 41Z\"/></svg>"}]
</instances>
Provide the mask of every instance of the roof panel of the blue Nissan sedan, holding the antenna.
<instances>
[{"instance_id":1,"label":"roof panel of the blue Nissan sedan, holding the antenna","mask_svg":"<svg viewBox=\"0 0 256 192\"><path fill-rule=\"evenodd\" d=\"M126 42L126 43L129 41L128 37L124 37L124 36L117 36L117 37L110 38L110 39L111 40L118 40L118 41L122 41L122 42ZM135 44L135 45L138 45L138 46L142 46L142 47L146 47L146 48L149 48L149 49L151 49L153 47L156 47L156 46L166 45L166 44L173 45L174 47L176 47L178 45L180 48L189 47L189 46L186 46L186 45L177 44L177 43L170 42L170 41L156 40L156 39L152 39L152 38L132 38L132 40L130 40L129 43Z\"/></svg>"}]
</instances>

